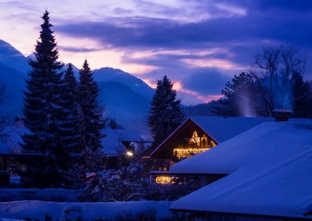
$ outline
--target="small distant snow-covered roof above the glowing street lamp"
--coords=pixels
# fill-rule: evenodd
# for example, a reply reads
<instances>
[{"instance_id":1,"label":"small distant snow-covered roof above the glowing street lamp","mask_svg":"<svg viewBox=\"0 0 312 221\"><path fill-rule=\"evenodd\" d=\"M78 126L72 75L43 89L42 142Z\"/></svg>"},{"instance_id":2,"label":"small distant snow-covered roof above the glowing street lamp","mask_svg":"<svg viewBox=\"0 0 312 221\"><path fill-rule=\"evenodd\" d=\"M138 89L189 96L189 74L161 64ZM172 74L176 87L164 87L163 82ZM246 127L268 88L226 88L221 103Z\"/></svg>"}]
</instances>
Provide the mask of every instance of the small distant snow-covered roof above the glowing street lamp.
<instances>
[{"instance_id":1,"label":"small distant snow-covered roof above the glowing street lamp","mask_svg":"<svg viewBox=\"0 0 312 221\"><path fill-rule=\"evenodd\" d=\"M102 131L105 136L101 140L103 148L101 152L109 156L120 156L125 150L123 141L141 142L143 139L134 130L112 130L111 127L105 127Z\"/></svg>"}]
</instances>

